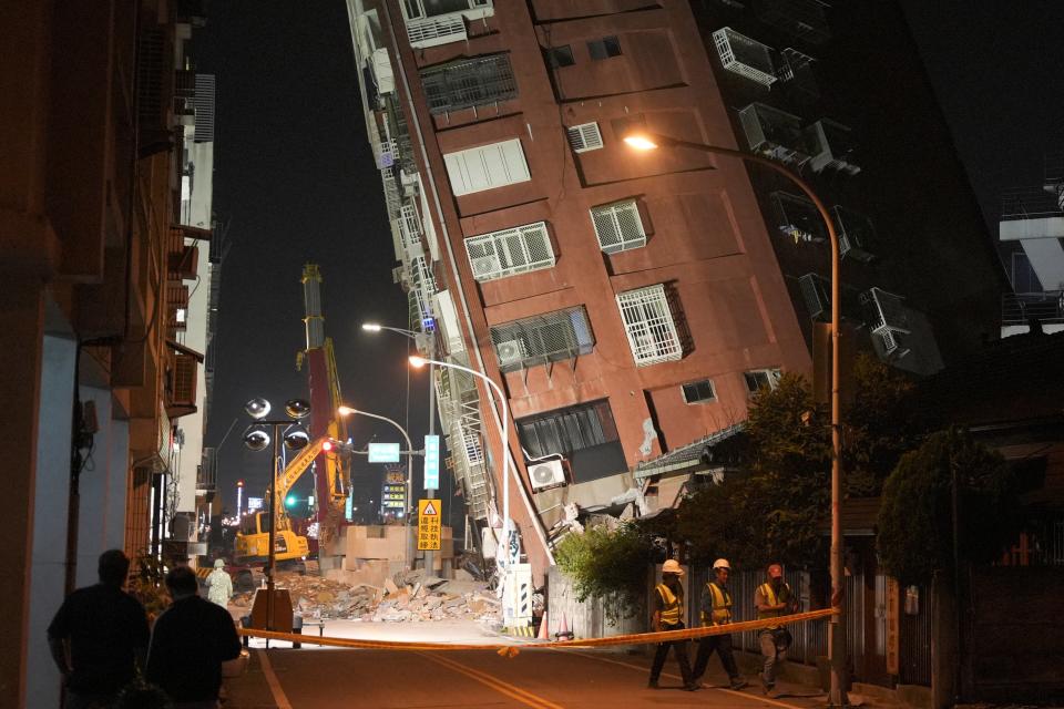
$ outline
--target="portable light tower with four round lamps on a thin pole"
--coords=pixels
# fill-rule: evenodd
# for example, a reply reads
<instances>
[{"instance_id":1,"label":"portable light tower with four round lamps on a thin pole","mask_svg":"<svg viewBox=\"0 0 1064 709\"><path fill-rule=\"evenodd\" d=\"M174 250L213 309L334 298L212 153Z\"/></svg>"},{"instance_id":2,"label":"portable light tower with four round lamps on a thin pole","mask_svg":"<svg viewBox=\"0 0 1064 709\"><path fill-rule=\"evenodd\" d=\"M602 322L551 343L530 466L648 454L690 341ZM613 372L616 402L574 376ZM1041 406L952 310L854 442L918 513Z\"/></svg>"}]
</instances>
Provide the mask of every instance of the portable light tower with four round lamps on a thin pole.
<instances>
[{"instance_id":1,"label":"portable light tower with four round lamps on a thin pole","mask_svg":"<svg viewBox=\"0 0 1064 709\"><path fill-rule=\"evenodd\" d=\"M289 399L285 402L285 419L267 420L272 407L263 398L252 399L244 405L255 423L244 431L244 445L252 451L265 450L273 442L273 455L269 464L269 540L267 544L266 562L266 629L274 629L274 577L276 573L276 543L277 543L277 476L280 465L280 443L282 429L284 432L284 444L289 450L299 450L306 448L310 442L310 436L299 427L299 421L310 415L310 404L303 399ZM273 428L273 436L266 431L266 427ZM289 630L288 628L283 628Z\"/></svg>"}]
</instances>

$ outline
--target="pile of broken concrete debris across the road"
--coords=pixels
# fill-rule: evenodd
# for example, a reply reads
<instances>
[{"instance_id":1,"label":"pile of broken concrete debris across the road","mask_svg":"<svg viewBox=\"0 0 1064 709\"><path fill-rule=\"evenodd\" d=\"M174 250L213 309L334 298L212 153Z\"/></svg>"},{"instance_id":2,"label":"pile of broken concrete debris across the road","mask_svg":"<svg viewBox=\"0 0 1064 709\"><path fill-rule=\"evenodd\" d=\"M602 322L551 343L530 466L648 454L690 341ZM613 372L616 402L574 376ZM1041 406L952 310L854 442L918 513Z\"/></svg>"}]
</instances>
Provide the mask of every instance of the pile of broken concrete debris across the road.
<instances>
[{"instance_id":1,"label":"pile of broken concrete debris across the road","mask_svg":"<svg viewBox=\"0 0 1064 709\"><path fill-rule=\"evenodd\" d=\"M420 623L468 618L498 623L500 602L483 582L426 576L422 571L400 572L385 579L383 588L278 573L277 586L287 588L293 610L304 618ZM239 594L233 605L250 608L254 593Z\"/></svg>"}]
</instances>

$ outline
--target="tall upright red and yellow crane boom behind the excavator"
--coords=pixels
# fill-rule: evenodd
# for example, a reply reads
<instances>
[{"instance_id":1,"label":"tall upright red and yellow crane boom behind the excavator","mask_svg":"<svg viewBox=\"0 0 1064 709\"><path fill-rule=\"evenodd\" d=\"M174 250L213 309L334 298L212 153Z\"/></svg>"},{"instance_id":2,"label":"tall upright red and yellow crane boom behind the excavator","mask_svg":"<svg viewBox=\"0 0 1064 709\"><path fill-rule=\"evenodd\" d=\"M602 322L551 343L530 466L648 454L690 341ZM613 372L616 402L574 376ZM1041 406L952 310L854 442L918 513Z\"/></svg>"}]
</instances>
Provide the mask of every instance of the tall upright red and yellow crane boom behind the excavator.
<instances>
[{"instance_id":1,"label":"tall upright red and yellow crane boom behind the excavator","mask_svg":"<svg viewBox=\"0 0 1064 709\"><path fill-rule=\"evenodd\" d=\"M330 436L347 441L347 423L337 414L344 403L340 381L336 372L332 338L325 336L325 317L321 315L321 270L317 264L303 267L304 326L307 347L296 357L296 369L307 366L310 390L310 435ZM344 502L350 471L347 456L319 454L316 465L315 494L320 501L317 507L319 554L321 546L330 542L342 524Z\"/></svg>"}]
</instances>

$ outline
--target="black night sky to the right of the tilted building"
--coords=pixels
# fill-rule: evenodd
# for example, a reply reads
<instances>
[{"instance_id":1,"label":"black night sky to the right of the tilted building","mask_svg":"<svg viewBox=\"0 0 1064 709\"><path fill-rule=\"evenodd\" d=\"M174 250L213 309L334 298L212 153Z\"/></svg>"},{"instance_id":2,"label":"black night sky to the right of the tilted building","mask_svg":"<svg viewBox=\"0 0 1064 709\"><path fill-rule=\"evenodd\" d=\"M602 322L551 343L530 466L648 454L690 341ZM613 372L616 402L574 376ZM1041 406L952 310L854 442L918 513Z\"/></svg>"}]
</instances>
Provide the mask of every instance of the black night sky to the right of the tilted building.
<instances>
[{"instance_id":1,"label":"black night sky to the right of the tilted building","mask_svg":"<svg viewBox=\"0 0 1064 709\"><path fill-rule=\"evenodd\" d=\"M1064 151L1064 2L901 3L996 237L1002 191L1040 184Z\"/></svg>"}]
</instances>

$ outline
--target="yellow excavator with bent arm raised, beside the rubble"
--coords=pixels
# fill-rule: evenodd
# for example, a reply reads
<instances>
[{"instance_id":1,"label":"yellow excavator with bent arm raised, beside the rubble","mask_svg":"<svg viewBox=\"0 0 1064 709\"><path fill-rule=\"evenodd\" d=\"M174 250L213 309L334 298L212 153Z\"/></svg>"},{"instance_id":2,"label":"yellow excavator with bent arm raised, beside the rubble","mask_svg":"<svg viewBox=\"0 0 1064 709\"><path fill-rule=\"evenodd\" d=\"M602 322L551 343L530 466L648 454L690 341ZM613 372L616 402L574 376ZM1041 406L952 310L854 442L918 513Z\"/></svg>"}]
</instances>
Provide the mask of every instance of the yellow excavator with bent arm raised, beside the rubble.
<instances>
[{"instance_id":1,"label":"yellow excavator with bent arm raised, beside the rubble","mask_svg":"<svg viewBox=\"0 0 1064 709\"><path fill-rule=\"evenodd\" d=\"M337 441L330 435L323 435L315 439L306 448L291 459L291 462L285 467L284 472L276 480L277 501L274 520L276 522L276 533L274 537L274 558L277 562L277 568L289 568L299 572L306 572L304 561L310 553L307 537L296 534L291 528L291 522L285 512L284 500L288 491L299 480L299 477L310 467L310 463L325 452L329 459L336 456ZM332 467L332 465L330 465ZM335 481L330 479L331 484ZM267 491L269 494L269 491ZM342 500L342 496L340 496ZM235 562L237 564L265 564L269 558L269 522L268 512L256 512L245 515L241 520L241 528L236 533Z\"/></svg>"}]
</instances>

